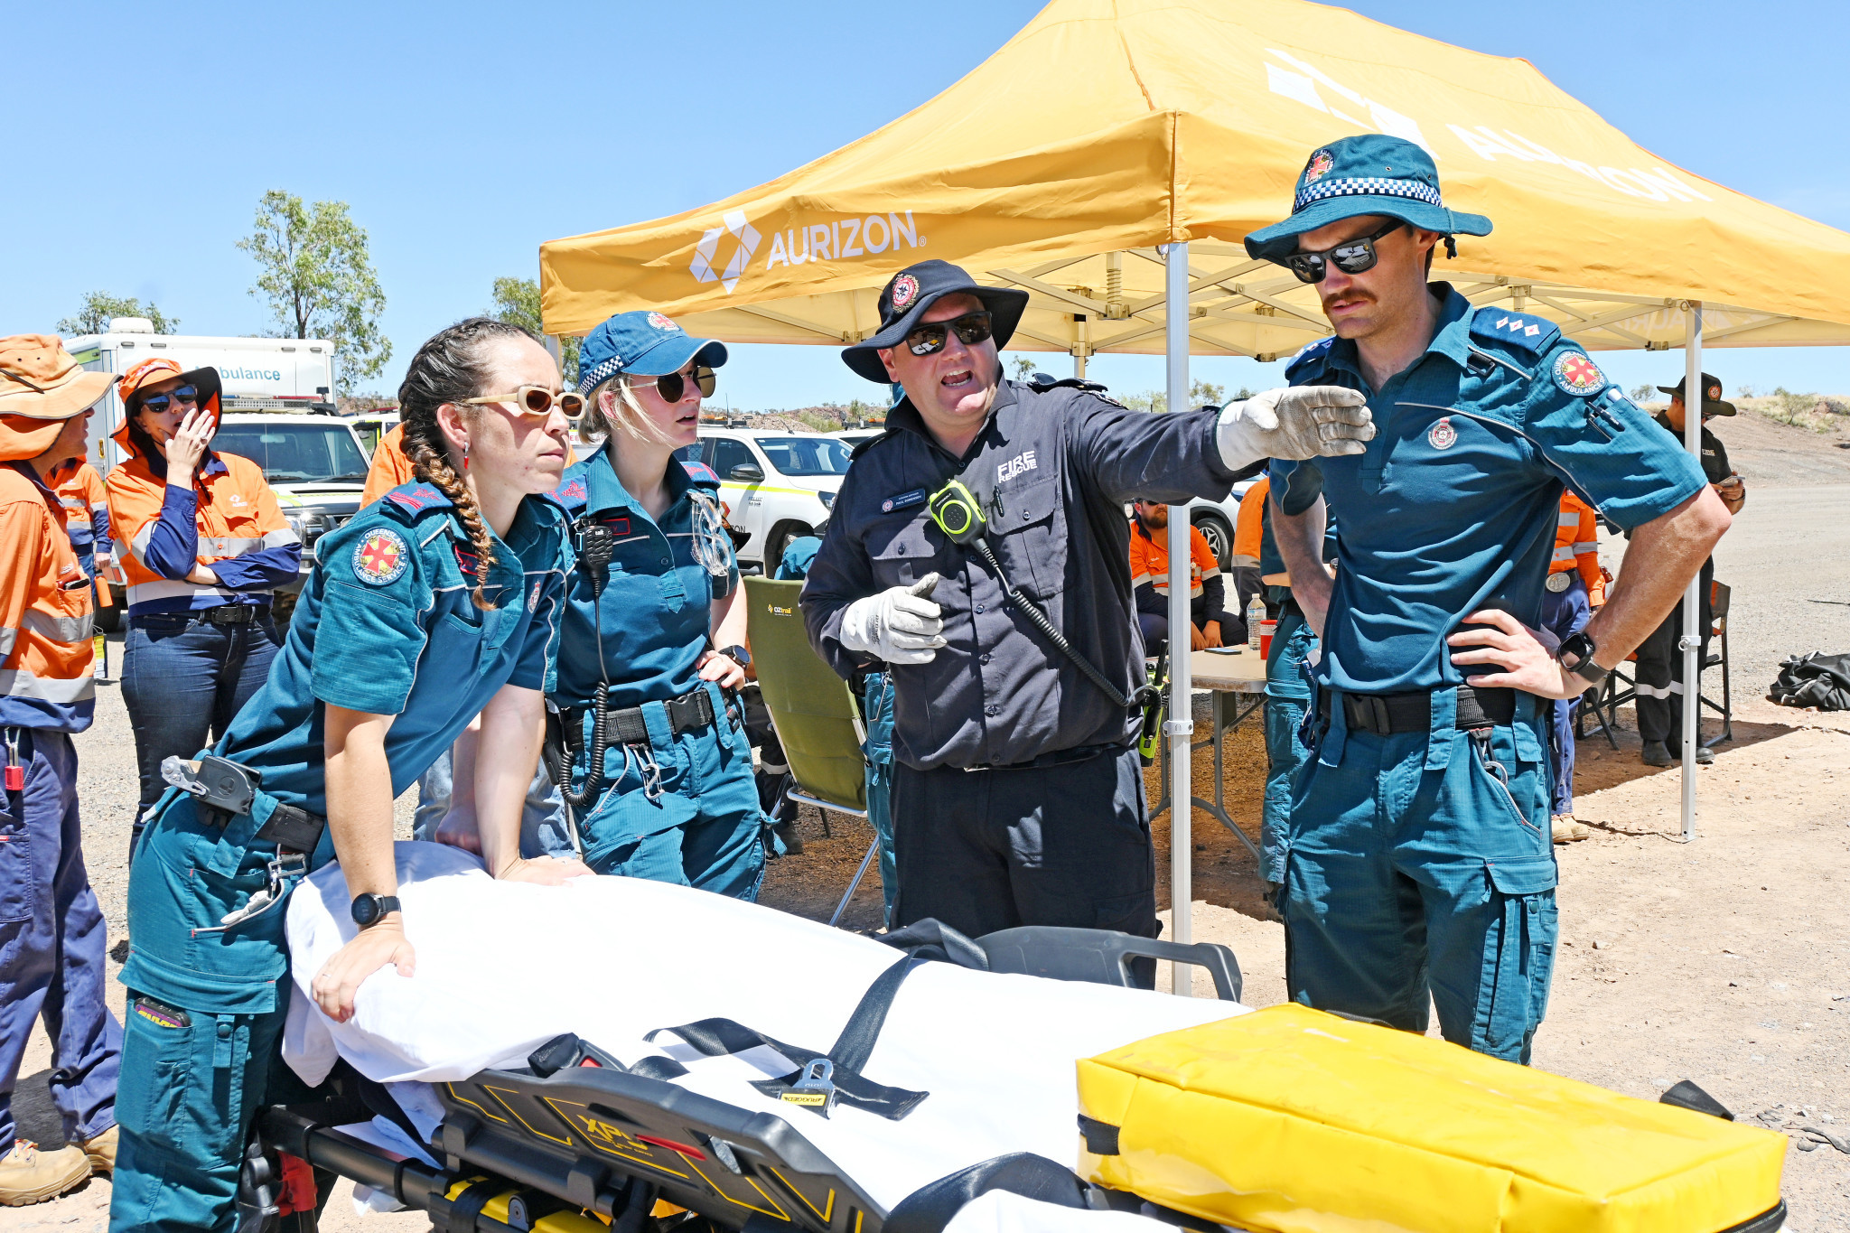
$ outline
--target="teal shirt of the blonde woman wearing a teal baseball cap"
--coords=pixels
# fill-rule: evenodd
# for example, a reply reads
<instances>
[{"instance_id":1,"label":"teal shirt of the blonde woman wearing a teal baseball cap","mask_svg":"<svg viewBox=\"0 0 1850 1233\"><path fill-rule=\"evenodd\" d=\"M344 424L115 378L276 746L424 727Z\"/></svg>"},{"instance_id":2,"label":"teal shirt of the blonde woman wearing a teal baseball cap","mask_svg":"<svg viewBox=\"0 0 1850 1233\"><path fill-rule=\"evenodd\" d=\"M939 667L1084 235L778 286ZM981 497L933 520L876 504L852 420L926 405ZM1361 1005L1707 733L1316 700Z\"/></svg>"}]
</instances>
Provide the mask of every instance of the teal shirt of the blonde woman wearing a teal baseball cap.
<instances>
[{"instance_id":1,"label":"teal shirt of the blonde woman wearing a teal baseball cap","mask_svg":"<svg viewBox=\"0 0 1850 1233\"><path fill-rule=\"evenodd\" d=\"M570 521L586 518L610 529L610 580L601 599L583 568L572 569L566 588L564 636L559 656L561 708L588 706L592 691L609 673L612 710L664 702L699 686L696 664L707 649L710 603L738 588L738 562L722 534L714 547L725 553L725 577L712 577L694 558L694 494L718 501L720 477L705 466L668 464L668 508L662 521L623 490L599 449L566 468L551 499ZM601 647L601 658L599 658Z\"/></svg>"}]
</instances>

